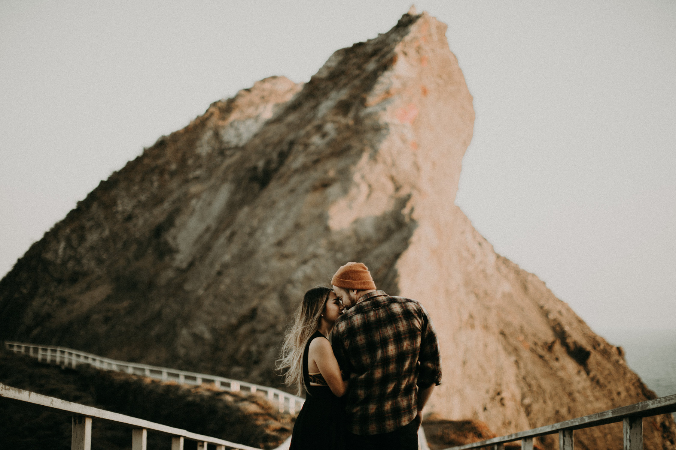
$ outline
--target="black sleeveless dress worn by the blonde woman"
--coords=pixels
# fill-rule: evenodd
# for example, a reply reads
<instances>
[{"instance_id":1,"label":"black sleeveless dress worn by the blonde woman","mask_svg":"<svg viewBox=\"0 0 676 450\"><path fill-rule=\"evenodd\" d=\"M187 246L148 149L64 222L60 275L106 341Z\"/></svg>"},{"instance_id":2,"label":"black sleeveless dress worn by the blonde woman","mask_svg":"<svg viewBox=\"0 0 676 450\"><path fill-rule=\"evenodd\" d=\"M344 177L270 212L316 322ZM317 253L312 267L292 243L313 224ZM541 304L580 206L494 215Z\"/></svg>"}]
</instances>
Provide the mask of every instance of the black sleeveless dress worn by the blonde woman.
<instances>
[{"instance_id":1,"label":"black sleeveless dress worn by the blonde woman","mask_svg":"<svg viewBox=\"0 0 676 450\"><path fill-rule=\"evenodd\" d=\"M310 386L308 373L308 349L316 337L324 337L316 331L308 339L303 353L303 382L308 395L298 413L289 450L343 450L345 449L345 404L343 397L336 397L326 385L321 374L312 375L312 383L324 386Z\"/></svg>"}]
</instances>

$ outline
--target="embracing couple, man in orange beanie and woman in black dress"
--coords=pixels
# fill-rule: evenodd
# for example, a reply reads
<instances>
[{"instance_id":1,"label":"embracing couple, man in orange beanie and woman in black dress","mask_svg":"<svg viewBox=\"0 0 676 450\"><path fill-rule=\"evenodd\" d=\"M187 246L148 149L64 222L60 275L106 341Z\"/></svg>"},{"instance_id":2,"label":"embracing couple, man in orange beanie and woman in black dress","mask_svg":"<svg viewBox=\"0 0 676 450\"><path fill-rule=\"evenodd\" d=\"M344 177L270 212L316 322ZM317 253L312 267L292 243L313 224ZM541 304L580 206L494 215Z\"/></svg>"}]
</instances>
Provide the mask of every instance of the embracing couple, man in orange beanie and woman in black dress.
<instances>
[{"instance_id":1,"label":"embracing couple, man in orange beanie and woman in black dress","mask_svg":"<svg viewBox=\"0 0 676 450\"><path fill-rule=\"evenodd\" d=\"M377 290L360 262L331 285L306 292L285 336L279 367L306 392L290 450L418 449L423 407L441 382L427 311Z\"/></svg>"}]
</instances>

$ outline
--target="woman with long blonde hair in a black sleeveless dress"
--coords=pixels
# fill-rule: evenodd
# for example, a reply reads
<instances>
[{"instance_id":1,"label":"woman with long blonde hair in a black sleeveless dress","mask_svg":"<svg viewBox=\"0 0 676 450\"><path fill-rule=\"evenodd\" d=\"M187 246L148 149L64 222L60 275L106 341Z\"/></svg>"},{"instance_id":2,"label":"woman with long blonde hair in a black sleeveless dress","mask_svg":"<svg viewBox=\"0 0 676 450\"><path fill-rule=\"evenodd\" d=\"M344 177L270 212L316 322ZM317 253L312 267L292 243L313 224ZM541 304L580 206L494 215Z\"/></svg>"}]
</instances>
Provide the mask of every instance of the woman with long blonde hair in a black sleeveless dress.
<instances>
[{"instance_id":1,"label":"woman with long blonde hair in a black sleeveless dress","mask_svg":"<svg viewBox=\"0 0 676 450\"><path fill-rule=\"evenodd\" d=\"M289 450L345 448L343 403L347 381L343 381L329 335L343 314L343 305L329 287L313 287L297 308L287 331L277 368L287 369L285 383L306 391L298 413Z\"/></svg>"}]
</instances>

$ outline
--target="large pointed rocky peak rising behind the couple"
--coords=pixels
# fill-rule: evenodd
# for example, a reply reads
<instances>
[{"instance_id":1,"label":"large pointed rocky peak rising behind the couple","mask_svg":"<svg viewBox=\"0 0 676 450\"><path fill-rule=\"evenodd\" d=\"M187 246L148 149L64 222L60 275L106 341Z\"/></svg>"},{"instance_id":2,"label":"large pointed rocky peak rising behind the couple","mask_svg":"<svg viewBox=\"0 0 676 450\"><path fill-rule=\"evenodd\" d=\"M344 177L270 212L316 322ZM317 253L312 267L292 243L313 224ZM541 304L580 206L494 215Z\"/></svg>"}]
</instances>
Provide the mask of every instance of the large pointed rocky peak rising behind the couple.
<instances>
[{"instance_id":1,"label":"large pointed rocky peak rising behind the couple","mask_svg":"<svg viewBox=\"0 0 676 450\"><path fill-rule=\"evenodd\" d=\"M504 434L654 397L454 204L474 110L445 30L406 14L307 84L267 78L160 138L1 281L1 337L279 385L304 291L362 261L435 322L428 412ZM646 448L674 430L644 420ZM621 447L619 426L575 436Z\"/></svg>"}]
</instances>

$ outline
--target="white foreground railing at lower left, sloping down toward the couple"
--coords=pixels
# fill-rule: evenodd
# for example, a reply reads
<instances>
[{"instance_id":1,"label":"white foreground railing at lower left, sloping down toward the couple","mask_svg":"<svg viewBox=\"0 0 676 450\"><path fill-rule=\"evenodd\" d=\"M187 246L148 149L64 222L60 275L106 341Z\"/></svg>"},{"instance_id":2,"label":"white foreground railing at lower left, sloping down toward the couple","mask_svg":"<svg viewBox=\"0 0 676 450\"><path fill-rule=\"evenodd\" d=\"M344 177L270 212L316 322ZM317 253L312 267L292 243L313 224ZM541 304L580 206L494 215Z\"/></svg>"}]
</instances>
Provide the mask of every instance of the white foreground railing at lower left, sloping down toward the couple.
<instances>
[{"instance_id":1,"label":"white foreground railing at lower left, sloping down toward the couple","mask_svg":"<svg viewBox=\"0 0 676 450\"><path fill-rule=\"evenodd\" d=\"M203 434L181 430L180 428L174 428L173 426L156 424L149 420L125 416L124 414L118 414L116 412L99 410L99 408L96 407L80 405L80 403L73 403L72 401L65 401L55 397L48 397L47 395L24 391L23 389L9 387L2 383L0 383L0 397L26 401L27 403L49 407L53 410L72 413L74 415L71 428L72 450L91 449L91 423L93 418L132 427L132 450L146 450L148 430L169 434L172 437L172 450L183 450L183 442L185 439L197 441L197 450L207 450L207 444L216 445L216 450L260 450L256 449L256 447L249 447L248 445L237 444L216 437L204 436Z\"/></svg>"}]
</instances>

